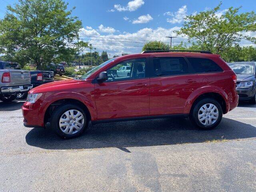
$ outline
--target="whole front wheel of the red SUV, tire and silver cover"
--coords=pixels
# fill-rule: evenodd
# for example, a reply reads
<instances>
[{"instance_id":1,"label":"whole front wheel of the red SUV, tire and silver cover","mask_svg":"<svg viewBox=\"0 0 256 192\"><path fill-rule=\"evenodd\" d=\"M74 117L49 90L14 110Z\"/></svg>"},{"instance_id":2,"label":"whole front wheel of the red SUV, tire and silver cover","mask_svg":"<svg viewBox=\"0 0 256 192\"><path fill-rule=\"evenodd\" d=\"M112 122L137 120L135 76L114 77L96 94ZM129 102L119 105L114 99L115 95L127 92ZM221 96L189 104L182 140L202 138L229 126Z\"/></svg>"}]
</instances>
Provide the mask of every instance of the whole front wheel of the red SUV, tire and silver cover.
<instances>
[{"instance_id":1,"label":"whole front wheel of the red SUV, tire and silver cover","mask_svg":"<svg viewBox=\"0 0 256 192\"><path fill-rule=\"evenodd\" d=\"M74 138L82 134L88 126L84 110L74 104L62 105L52 113L51 126L58 136Z\"/></svg>"}]
</instances>

